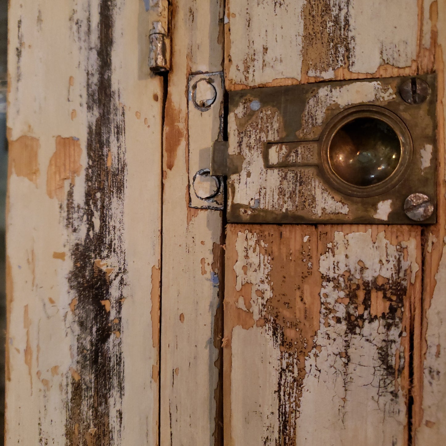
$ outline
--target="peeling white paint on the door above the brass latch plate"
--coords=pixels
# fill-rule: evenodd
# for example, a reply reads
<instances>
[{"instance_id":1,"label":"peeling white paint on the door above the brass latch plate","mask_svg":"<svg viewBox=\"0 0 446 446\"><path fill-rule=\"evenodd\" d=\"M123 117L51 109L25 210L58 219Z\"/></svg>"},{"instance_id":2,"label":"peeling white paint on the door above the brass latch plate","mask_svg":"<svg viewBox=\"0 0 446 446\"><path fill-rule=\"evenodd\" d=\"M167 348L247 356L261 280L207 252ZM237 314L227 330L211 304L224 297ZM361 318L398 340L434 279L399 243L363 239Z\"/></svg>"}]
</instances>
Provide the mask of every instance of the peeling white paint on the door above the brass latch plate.
<instances>
[{"instance_id":1,"label":"peeling white paint on the door above the brass latch plate","mask_svg":"<svg viewBox=\"0 0 446 446\"><path fill-rule=\"evenodd\" d=\"M429 47L431 25L429 6L424 5L422 42ZM301 71L313 61L303 60L304 45L318 36L305 35L312 17L305 17L305 1L280 2L248 0L227 2L231 27L227 54L229 83L255 86L277 79L301 79ZM320 9L317 9L322 13ZM323 33L341 33L344 39L322 47L314 56L326 61L326 69L308 68L309 76L335 77L335 70L345 67L353 73L375 73L380 66L411 66L417 58L417 1L392 2L330 0ZM268 26L265 26L268 21ZM317 32L317 30L316 30ZM325 36L324 36L325 37ZM320 38L320 36L319 36ZM308 57L308 56L307 56ZM316 64L318 65L318 64ZM324 64L323 64L324 65Z\"/></svg>"}]
</instances>

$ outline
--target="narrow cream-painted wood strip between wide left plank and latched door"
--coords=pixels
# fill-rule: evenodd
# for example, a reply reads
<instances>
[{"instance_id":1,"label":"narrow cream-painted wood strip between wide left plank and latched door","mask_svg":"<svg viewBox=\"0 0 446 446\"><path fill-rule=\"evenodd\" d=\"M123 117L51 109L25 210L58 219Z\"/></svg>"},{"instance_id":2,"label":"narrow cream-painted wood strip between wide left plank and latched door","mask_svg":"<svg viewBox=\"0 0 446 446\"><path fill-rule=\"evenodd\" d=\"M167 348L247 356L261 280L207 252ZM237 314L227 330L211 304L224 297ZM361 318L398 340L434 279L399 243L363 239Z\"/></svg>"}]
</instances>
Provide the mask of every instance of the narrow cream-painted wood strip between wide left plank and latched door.
<instances>
[{"instance_id":1,"label":"narrow cream-painted wood strip between wide left plank and latched door","mask_svg":"<svg viewBox=\"0 0 446 446\"><path fill-rule=\"evenodd\" d=\"M220 445L222 214L188 207L194 166L187 85L189 74L222 70L223 1L174 2L172 20L163 152L161 445Z\"/></svg>"}]
</instances>

